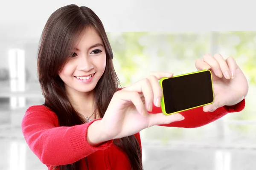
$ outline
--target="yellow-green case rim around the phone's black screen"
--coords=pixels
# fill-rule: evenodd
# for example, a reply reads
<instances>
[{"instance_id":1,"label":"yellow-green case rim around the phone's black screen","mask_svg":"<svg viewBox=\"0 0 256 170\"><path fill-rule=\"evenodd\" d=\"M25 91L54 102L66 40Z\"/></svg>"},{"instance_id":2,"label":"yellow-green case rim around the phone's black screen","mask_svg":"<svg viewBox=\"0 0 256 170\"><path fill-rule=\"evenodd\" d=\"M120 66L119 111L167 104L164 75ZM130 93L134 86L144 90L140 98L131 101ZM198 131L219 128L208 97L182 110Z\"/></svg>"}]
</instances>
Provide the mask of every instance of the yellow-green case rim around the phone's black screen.
<instances>
[{"instance_id":1,"label":"yellow-green case rim around the phone's black screen","mask_svg":"<svg viewBox=\"0 0 256 170\"><path fill-rule=\"evenodd\" d=\"M209 70L202 70L202 71L195 71L195 72L192 72L192 73L188 73L188 74L181 74L181 75L177 75L177 76L174 76L172 78L175 78L175 77L180 77L180 76L186 76L186 75L189 75L189 74L197 74L197 73L200 73L200 72L204 72L204 71L209 71ZM212 80L212 72L209 71L210 74L211 74L211 80ZM161 85L161 88L162 88L162 92L163 92L163 85L162 85L162 82L163 80L165 79L169 79L169 78L162 78L160 79L159 83ZM201 105L201 106L205 106L205 105L209 105L209 104L212 104L214 102L214 93L213 93L213 85L212 85L212 94L213 94L213 100L212 102L210 103L207 103L207 104L204 104L204 105ZM194 108L198 108L198 107L201 107L201 106L196 106ZM162 96L162 99L161 99L161 108L162 108L162 112L166 115L170 115L170 114L174 114L174 113L180 113L180 112L183 112L183 111L187 111L187 110L190 110L190 109L193 109L193 108L188 108L188 109L185 109L185 110L182 110L182 111L177 111L177 112L174 112L174 113L166 113L166 110L165 110L165 104L164 104L164 96Z\"/></svg>"}]
</instances>

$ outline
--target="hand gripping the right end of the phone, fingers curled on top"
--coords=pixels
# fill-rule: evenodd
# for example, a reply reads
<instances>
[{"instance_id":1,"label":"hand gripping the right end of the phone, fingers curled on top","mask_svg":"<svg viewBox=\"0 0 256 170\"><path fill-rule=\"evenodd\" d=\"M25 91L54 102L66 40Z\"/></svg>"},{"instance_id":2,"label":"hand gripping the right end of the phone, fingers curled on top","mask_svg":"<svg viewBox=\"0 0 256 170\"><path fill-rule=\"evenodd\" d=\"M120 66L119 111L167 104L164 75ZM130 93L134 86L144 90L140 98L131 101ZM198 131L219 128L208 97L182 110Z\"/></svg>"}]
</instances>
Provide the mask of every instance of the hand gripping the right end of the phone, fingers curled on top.
<instances>
[{"instance_id":1,"label":"hand gripping the right end of the phone, fingers curled on top","mask_svg":"<svg viewBox=\"0 0 256 170\"><path fill-rule=\"evenodd\" d=\"M221 54L213 57L204 55L195 61L198 71L210 70L214 91L214 102L203 107L204 111L215 111L222 106L232 106L241 102L248 93L248 82L235 59L224 59Z\"/></svg>"}]
</instances>

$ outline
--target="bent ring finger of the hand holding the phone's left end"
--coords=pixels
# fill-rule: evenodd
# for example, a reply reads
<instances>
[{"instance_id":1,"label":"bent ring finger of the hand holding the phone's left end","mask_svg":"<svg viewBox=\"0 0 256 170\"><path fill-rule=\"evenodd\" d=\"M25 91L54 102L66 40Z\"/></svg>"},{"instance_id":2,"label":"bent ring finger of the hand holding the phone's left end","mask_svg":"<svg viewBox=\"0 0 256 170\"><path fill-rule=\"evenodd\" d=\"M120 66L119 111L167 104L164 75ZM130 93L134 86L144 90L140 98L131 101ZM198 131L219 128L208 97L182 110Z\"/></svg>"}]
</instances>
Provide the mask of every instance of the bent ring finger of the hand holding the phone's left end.
<instances>
[{"instance_id":1,"label":"bent ring finger of the hand holding the phone's left end","mask_svg":"<svg viewBox=\"0 0 256 170\"><path fill-rule=\"evenodd\" d=\"M142 79L133 85L123 88L123 91L135 91L137 93L142 93L145 97L145 105L148 111L152 111L152 103L154 99L153 89L149 79Z\"/></svg>"}]
</instances>

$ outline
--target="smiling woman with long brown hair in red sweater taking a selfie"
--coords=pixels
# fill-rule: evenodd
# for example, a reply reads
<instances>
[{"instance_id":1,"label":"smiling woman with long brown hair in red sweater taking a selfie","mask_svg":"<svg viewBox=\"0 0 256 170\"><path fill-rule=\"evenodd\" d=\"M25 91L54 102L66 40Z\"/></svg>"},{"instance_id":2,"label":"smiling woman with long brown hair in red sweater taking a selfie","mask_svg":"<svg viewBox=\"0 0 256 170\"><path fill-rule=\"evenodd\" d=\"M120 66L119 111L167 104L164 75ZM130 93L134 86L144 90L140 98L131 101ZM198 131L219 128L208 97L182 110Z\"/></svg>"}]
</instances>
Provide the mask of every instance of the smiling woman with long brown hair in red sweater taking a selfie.
<instances>
[{"instance_id":1,"label":"smiling woman with long brown hair in red sweater taking a selfie","mask_svg":"<svg viewBox=\"0 0 256 170\"><path fill-rule=\"evenodd\" d=\"M112 59L90 8L64 6L49 17L38 51L45 103L29 107L22 121L28 146L49 170L142 170L140 130L200 127L244 108L247 80L231 57L207 54L195 62L215 73L213 104L169 116L161 113L158 80L173 74L154 72L119 88Z\"/></svg>"}]
</instances>

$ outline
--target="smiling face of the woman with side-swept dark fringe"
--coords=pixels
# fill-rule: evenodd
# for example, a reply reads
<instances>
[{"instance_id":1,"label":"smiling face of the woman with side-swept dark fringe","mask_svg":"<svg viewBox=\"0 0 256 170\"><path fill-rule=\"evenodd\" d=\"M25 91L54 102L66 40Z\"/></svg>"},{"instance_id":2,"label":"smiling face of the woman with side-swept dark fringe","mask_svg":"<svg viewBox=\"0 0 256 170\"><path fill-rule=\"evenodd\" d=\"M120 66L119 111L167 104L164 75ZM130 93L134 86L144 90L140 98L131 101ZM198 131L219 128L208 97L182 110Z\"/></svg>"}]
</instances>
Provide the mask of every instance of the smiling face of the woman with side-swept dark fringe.
<instances>
[{"instance_id":1,"label":"smiling face of the woman with side-swept dark fringe","mask_svg":"<svg viewBox=\"0 0 256 170\"><path fill-rule=\"evenodd\" d=\"M92 91L106 67L106 52L101 37L93 28L87 28L73 56L59 74L68 92Z\"/></svg>"}]
</instances>

